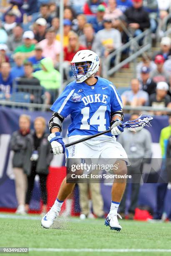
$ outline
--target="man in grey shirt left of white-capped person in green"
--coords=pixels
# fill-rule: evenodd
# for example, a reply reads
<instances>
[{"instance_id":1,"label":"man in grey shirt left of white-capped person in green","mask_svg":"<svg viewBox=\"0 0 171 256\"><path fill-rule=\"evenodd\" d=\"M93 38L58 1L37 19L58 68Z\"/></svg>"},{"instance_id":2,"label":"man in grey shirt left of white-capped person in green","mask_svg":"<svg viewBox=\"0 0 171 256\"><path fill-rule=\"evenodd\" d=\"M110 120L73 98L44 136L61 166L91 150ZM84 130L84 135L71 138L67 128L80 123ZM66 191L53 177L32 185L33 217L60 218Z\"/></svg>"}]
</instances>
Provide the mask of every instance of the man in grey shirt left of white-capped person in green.
<instances>
[{"instance_id":1,"label":"man in grey shirt left of white-capped person in green","mask_svg":"<svg viewBox=\"0 0 171 256\"><path fill-rule=\"evenodd\" d=\"M23 41L23 28L17 24L13 28L13 33L8 37L8 49L10 51L15 51L15 49L22 44Z\"/></svg>"}]
</instances>

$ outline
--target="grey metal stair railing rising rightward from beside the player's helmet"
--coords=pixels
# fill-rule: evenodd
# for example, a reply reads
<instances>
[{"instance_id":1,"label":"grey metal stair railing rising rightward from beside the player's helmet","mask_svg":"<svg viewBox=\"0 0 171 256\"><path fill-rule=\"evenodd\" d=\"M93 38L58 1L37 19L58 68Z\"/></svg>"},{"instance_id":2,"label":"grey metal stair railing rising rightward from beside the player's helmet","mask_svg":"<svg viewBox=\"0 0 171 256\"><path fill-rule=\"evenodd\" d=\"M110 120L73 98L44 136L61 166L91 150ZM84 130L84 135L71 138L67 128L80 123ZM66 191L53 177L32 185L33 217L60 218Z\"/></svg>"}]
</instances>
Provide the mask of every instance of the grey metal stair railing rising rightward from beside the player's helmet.
<instances>
[{"instance_id":1,"label":"grey metal stair railing rising rightward from beside the player's helmet","mask_svg":"<svg viewBox=\"0 0 171 256\"><path fill-rule=\"evenodd\" d=\"M111 74L116 72L118 69L123 67L123 65L127 64L128 62L136 59L138 56L143 54L145 51L148 51L151 49L151 31L150 29L147 29L140 35L136 36L135 38L131 38L128 43L121 46L119 49L114 51L113 53L109 54L108 57L103 61L103 77L108 78ZM138 41L143 39L143 46L140 47L138 45ZM148 43L147 43L148 42ZM121 53L125 51L126 49L130 49L129 51L129 57L127 59L124 59L119 63L119 56L121 56ZM110 69L110 62L111 59L115 57L115 67L112 67Z\"/></svg>"}]
</instances>

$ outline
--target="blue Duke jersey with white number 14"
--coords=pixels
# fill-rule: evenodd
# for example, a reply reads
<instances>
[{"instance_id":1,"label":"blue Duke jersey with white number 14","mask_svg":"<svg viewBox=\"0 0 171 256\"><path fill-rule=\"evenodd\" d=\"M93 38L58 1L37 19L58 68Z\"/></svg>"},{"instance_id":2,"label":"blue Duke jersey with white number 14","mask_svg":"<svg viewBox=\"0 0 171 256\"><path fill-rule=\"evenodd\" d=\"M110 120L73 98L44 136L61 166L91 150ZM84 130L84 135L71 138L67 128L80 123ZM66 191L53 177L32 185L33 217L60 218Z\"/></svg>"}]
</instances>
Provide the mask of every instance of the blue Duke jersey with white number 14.
<instances>
[{"instance_id":1,"label":"blue Duke jersey with white number 14","mask_svg":"<svg viewBox=\"0 0 171 256\"><path fill-rule=\"evenodd\" d=\"M50 108L64 118L71 117L68 136L93 135L110 128L111 113L121 110L116 87L98 77L95 85L71 82ZM111 133L106 135L112 136Z\"/></svg>"}]
</instances>

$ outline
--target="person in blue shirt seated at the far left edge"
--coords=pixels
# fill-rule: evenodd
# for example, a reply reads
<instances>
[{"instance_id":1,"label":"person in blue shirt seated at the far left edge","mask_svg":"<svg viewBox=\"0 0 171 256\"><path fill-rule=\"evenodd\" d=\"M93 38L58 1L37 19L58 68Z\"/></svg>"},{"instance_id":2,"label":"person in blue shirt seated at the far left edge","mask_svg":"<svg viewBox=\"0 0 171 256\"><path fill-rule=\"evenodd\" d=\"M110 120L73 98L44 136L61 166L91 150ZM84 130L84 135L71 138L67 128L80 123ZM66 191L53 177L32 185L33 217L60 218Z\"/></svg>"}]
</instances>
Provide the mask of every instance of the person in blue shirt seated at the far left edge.
<instances>
[{"instance_id":1,"label":"person in blue shirt seated at the far left edge","mask_svg":"<svg viewBox=\"0 0 171 256\"><path fill-rule=\"evenodd\" d=\"M5 94L6 99L10 98L12 88L13 88L13 79L10 73L10 64L8 62L3 62L1 64L0 72L0 92Z\"/></svg>"}]
</instances>

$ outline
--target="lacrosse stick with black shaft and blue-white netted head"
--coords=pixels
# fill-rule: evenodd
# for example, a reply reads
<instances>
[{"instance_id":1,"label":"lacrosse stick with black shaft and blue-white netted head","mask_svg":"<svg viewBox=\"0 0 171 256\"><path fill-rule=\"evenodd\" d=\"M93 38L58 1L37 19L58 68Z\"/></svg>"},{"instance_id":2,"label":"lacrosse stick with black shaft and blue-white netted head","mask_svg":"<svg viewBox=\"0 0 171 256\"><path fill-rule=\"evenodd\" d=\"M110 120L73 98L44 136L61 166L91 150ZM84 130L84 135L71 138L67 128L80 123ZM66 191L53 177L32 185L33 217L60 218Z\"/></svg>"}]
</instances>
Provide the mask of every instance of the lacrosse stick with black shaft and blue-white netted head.
<instances>
[{"instance_id":1,"label":"lacrosse stick with black shaft and blue-white netted head","mask_svg":"<svg viewBox=\"0 0 171 256\"><path fill-rule=\"evenodd\" d=\"M134 131L134 132L138 132L138 131L141 131L143 129L144 126L149 126L151 125L150 122L153 120L153 117L149 116L149 115L140 115L137 119L135 120L131 120L131 121L127 121L125 123L123 123L123 128L124 129L127 129L129 131ZM72 143L68 143L65 145L65 148L68 148L70 146L73 146L75 144L78 144L80 142L83 142L83 141L87 141L91 138L96 138L100 135L103 135L105 133L110 133L111 129L108 129L106 131L103 131L101 133L96 133L94 135L91 135L91 136L88 136L88 137L85 137L85 138L82 138L78 141L74 141ZM51 149L50 150L50 153L53 153L53 150Z\"/></svg>"}]
</instances>

